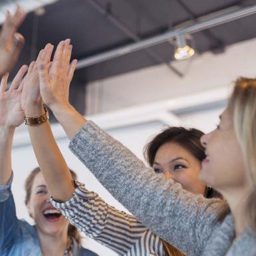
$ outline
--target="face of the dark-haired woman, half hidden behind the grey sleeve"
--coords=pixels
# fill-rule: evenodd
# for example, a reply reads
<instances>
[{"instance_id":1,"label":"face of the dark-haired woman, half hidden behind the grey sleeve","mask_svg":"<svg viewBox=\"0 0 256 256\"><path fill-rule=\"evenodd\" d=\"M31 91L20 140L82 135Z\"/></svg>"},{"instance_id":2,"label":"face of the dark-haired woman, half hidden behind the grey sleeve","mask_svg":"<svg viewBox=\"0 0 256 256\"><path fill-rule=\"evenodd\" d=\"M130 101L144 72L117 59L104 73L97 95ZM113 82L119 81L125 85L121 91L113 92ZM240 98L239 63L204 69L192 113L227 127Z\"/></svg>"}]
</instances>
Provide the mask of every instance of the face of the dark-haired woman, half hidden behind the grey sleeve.
<instances>
[{"instance_id":1,"label":"face of the dark-haired woman, half hidden behind the grey sleeve","mask_svg":"<svg viewBox=\"0 0 256 256\"><path fill-rule=\"evenodd\" d=\"M172 178L180 183L184 190L205 193L205 185L198 178L201 162L177 143L166 142L160 146L152 167L156 173L164 174L166 179Z\"/></svg>"}]
</instances>

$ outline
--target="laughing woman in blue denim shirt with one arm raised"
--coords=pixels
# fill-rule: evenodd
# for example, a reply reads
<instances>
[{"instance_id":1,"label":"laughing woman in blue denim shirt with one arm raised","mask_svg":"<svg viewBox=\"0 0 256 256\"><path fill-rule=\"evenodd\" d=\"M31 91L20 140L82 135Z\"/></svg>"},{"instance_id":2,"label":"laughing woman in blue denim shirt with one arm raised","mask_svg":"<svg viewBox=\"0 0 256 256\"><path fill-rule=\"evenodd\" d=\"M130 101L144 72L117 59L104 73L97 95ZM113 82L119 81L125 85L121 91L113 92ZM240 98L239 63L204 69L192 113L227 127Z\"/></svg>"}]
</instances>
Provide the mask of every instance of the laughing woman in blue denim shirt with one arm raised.
<instances>
[{"instance_id":1,"label":"laughing woman in blue denim shirt with one arm raised","mask_svg":"<svg viewBox=\"0 0 256 256\"><path fill-rule=\"evenodd\" d=\"M8 74L3 76L0 86L0 255L96 256L80 246L76 228L51 204L39 168L26 182L25 201L35 225L17 219L11 193L11 148L15 128L24 120L20 84L26 71L27 66L22 66L8 90Z\"/></svg>"}]
</instances>

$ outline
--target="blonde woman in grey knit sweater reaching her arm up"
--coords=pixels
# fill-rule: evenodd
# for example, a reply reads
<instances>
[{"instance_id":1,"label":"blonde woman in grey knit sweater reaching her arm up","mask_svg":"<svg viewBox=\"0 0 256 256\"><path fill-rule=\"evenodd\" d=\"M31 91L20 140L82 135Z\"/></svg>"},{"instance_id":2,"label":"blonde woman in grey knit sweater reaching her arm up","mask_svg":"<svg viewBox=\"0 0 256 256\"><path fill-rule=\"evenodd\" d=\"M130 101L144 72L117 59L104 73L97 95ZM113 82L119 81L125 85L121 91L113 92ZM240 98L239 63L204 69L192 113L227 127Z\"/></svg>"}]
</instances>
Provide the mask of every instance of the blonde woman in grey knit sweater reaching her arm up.
<instances>
[{"instance_id":1,"label":"blonde woman in grey knit sweater reaching her arm up","mask_svg":"<svg viewBox=\"0 0 256 256\"><path fill-rule=\"evenodd\" d=\"M70 149L139 221L188 255L255 256L255 79L235 82L219 126L201 139L207 158L200 179L221 192L225 203L150 172L70 106L68 85L49 79L47 64L42 61L39 70L41 95L72 139ZM68 190L63 197L56 188L55 199L70 199L72 184Z\"/></svg>"}]
</instances>

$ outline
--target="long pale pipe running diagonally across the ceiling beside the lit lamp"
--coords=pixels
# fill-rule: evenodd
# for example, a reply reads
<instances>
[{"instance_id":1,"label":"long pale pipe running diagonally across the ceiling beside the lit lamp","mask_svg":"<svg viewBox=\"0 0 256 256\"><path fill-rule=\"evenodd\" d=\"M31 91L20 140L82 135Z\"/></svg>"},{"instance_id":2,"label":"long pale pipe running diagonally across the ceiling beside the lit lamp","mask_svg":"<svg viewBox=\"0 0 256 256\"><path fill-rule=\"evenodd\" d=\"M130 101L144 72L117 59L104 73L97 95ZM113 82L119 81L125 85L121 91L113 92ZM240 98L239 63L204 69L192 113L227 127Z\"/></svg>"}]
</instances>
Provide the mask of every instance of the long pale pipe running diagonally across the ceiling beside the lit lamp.
<instances>
[{"instance_id":1,"label":"long pale pipe running diagonally across the ceiling beside the lit lamp","mask_svg":"<svg viewBox=\"0 0 256 256\"><path fill-rule=\"evenodd\" d=\"M86 66L92 66L93 64L102 63L103 61L109 61L110 59L114 59L126 55L128 53L133 53L135 51L140 51L142 49L146 49L154 45L159 45L161 43L174 39L175 37L177 37L177 35L192 34L195 32L202 31L204 29L209 29L217 25L234 21L236 19L241 19L243 17L247 17L255 13L256 5L251 5L250 7L241 8L237 11L232 11L230 13L218 15L217 17L211 17L210 19L201 20L196 23L193 23L192 25L174 29L173 31L163 33L162 35L158 35L150 39L145 39L137 43L132 43L130 45L114 49L112 51L100 53L98 55L82 59L78 61L76 69L84 68Z\"/></svg>"}]
</instances>

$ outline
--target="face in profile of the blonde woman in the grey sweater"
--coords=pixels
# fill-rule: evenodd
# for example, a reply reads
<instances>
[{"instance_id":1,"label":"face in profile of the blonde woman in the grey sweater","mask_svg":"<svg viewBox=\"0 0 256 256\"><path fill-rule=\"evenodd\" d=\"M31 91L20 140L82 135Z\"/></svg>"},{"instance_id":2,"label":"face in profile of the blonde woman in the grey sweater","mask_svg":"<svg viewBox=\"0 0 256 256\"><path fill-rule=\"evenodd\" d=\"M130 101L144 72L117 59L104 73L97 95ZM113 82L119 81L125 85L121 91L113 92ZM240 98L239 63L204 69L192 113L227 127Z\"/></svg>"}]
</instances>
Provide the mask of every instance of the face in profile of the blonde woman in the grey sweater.
<instances>
[{"instance_id":1,"label":"face in profile of the blonde woman in the grey sweater","mask_svg":"<svg viewBox=\"0 0 256 256\"><path fill-rule=\"evenodd\" d=\"M219 125L201 137L206 158L202 162L200 180L219 192L247 186L241 147L235 136L229 110L221 114Z\"/></svg>"}]
</instances>

